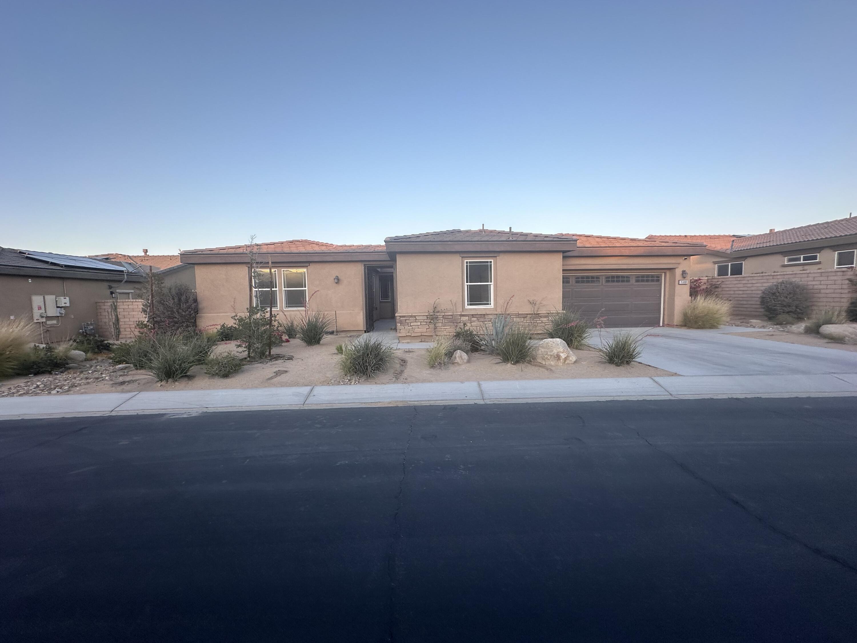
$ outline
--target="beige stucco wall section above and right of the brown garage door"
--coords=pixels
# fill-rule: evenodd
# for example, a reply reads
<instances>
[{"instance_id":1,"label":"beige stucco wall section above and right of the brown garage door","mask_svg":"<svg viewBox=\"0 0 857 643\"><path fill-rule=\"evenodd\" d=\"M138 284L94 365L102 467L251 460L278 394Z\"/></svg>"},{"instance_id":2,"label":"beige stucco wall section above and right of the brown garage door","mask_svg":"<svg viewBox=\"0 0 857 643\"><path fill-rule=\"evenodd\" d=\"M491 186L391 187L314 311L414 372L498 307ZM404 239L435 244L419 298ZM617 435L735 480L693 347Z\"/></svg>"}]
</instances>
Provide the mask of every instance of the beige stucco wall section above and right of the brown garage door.
<instances>
[{"instance_id":1,"label":"beige stucco wall section above and right of the brown garage door","mask_svg":"<svg viewBox=\"0 0 857 643\"><path fill-rule=\"evenodd\" d=\"M680 256L566 256L562 260L564 271L591 273L659 272L663 273L663 323L678 324L681 311L691 300L690 285L679 284L692 278L693 257ZM687 277L681 271L687 271Z\"/></svg>"}]
</instances>

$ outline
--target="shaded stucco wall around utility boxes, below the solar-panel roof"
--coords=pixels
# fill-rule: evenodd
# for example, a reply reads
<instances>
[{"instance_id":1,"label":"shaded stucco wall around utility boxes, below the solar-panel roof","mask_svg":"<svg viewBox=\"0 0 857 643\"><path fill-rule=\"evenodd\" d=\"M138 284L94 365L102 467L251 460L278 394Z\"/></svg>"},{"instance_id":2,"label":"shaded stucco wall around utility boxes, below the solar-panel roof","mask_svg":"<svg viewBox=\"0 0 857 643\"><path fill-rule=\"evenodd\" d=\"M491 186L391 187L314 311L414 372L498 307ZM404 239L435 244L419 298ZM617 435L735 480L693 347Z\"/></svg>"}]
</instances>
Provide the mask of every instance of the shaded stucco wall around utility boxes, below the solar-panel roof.
<instances>
[{"instance_id":1,"label":"shaded stucco wall around utility boxes, below the solar-panel roof","mask_svg":"<svg viewBox=\"0 0 857 643\"><path fill-rule=\"evenodd\" d=\"M59 279L56 277L27 277L0 275L0 319L26 319L33 321L31 295L53 295L69 297L65 316L57 317L59 326L45 326L45 341L68 340L81 330L83 322L95 322L95 303L110 299L109 284L121 290L132 290L137 282L102 281L98 279ZM40 341L40 324L33 322L34 341Z\"/></svg>"}]
</instances>

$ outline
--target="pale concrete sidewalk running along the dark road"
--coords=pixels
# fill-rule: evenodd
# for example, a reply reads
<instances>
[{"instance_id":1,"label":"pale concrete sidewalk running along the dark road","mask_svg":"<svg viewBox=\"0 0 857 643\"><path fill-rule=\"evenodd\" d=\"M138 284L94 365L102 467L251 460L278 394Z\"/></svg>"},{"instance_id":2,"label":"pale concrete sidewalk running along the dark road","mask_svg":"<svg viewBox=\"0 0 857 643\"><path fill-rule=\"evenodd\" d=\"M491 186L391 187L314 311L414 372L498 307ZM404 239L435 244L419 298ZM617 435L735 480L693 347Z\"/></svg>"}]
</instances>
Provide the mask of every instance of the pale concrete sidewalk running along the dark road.
<instances>
[{"instance_id":1,"label":"pale concrete sidewalk running along the dark road","mask_svg":"<svg viewBox=\"0 0 857 643\"><path fill-rule=\"evenodd\" d=\"M857 395L857 373L427 382L0 399L0 419L401 404Z\"/></svg>"}]
</instances>

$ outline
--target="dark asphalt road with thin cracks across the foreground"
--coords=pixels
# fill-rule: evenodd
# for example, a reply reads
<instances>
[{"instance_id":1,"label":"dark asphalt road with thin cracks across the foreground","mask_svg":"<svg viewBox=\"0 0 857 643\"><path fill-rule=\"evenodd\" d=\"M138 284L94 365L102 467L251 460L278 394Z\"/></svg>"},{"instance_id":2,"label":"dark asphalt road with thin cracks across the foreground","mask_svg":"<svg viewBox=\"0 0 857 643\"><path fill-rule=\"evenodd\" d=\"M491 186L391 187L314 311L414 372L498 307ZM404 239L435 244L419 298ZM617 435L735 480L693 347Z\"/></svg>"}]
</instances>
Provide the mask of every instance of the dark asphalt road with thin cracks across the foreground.
<instances>
[{"instance_id":1,"label":"dark asphalt road with thin cracks across the foreground","mask_svg":"<svg viewBox=\"0 0 857 643\"><path fill-rule=\"evenodd\" d=\"M0 422L3 641L854 641L857 398Z\"/></svg>"}]
</instances>

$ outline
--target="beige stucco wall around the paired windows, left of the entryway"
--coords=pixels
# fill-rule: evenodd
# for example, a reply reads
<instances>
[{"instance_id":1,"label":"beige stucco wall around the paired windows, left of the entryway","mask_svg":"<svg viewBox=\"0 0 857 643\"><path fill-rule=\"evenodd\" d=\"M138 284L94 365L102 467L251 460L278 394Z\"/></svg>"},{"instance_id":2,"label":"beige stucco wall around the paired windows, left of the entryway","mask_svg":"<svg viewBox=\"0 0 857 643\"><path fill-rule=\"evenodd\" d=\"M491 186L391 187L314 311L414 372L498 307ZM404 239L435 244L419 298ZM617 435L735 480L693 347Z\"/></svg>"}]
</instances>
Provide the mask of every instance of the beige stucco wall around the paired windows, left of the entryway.
<instances>
[{"instance_id":1,"label":"beige stucco wall around the paired windows, left of the entryway","mask_svg":"<svg viewBox=\"0 0 857 643\"><path fill-rule=\"evenodd\" d=\"M288 267L307 269L310 309L326 312L332 320L335 318L339 331L363 330L363 263L330 261L302 265L273 264L274 269ZM231 324L232 315L243 313L249 306L249 267L240 263L200 263L195 268L196 297L200 303L197 327ZM339 284L333 282L334 276L339 276ZM282 273L278 273L278 286L278 303L282 304ZM285 320L303 314L303 309L277 309L274 312Z\"/></svg>"}]
</instances>

